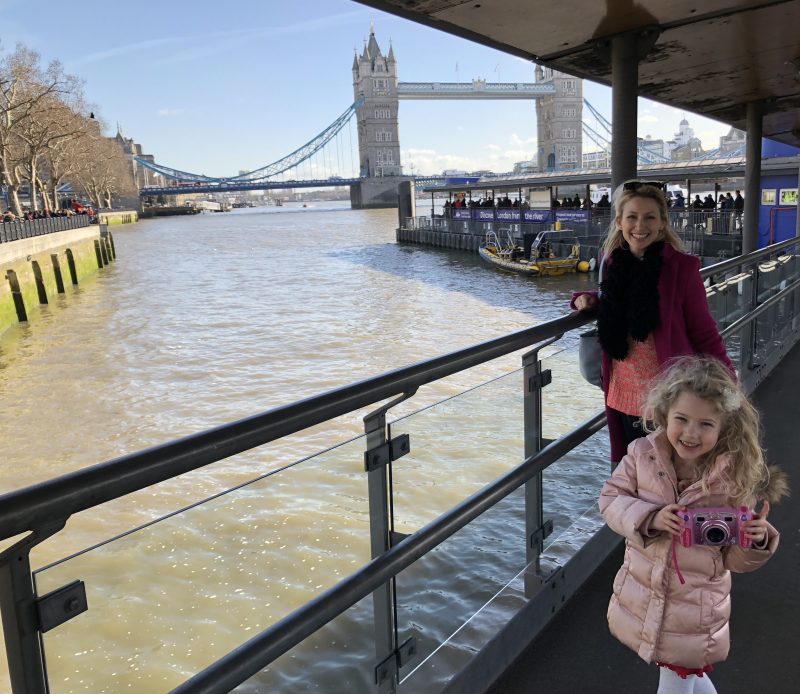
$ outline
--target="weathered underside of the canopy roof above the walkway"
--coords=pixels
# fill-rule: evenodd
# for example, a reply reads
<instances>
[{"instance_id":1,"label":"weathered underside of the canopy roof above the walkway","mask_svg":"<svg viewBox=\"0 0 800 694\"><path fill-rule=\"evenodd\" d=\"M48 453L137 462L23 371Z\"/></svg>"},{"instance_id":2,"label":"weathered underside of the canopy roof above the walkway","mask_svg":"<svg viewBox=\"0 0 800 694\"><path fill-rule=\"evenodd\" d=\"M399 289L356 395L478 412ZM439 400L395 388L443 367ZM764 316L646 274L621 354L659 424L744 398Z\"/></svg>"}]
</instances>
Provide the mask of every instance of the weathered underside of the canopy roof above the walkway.
<instances>
[{"instance_id":1,"label":"weathered underside of the canopy roof above the walkway","mask_svg":"<svg viewBox=\"0 0 800 694\"><path fill-rule=\"evenodd\" d=\"M610 37L651 47L639 95L800 146L800 0L358 0L555 70L611 84Z\"/></svg>"}]
</instances>

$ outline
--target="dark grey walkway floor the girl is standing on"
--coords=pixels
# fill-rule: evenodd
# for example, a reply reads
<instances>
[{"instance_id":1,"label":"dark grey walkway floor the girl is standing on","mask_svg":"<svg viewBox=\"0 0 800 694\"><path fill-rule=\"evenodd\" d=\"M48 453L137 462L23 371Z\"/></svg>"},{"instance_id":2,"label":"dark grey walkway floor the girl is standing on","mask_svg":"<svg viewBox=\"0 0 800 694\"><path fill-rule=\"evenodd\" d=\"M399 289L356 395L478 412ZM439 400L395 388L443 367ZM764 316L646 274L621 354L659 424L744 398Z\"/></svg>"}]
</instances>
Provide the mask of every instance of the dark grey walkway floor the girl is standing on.
<instances>
[{"instance_id":1,"label":"dark grey walkway floor the girl is standing on","mask_svg":"<svg viewBox=\"0 0 800 694\"><path fill-rule=\"evenodd\" d=\"M760 570L734 575L731 652L711 677L720 694L800 691L798 393L800 345L753 396L765 422L768 460L790 474L793 495L770 513L781 532L778 552ZM489 694L655 694L656 666L645 664L608 633L606 608L621 563L620 546Z\"/></svg>"}]
</instances>

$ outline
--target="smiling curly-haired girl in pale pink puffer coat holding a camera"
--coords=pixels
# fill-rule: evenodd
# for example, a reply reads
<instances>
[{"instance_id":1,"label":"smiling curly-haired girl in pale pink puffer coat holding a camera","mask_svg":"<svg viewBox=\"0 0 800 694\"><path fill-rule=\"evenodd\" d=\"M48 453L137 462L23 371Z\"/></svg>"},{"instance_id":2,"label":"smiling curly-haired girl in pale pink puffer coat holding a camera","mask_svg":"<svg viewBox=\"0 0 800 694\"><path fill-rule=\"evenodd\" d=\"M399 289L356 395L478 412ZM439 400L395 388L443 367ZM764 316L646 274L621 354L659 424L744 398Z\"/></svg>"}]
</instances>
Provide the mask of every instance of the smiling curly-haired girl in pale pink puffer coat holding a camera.
<instances>
[{"instance_id":1,"label":"smiling curly-haired girl in pale pink puffer coat holding a camera","mask_svg":"<svg viewBox=\"0 0 800 694\"><path fill-rule=\"evenodd\" d=\"M778 546L769 502L788 493L768 468L758 413L719 360L683 357L650 391L655 430L635 439L600 494L609 527L625 537L625 559L608 608L611 633L661 666L659 694L711 694L705 673L728 655L731 571L753 571ZM688 507L745 505L750 540L714 547L679 541Z\"/></svg>"}]
</instances>

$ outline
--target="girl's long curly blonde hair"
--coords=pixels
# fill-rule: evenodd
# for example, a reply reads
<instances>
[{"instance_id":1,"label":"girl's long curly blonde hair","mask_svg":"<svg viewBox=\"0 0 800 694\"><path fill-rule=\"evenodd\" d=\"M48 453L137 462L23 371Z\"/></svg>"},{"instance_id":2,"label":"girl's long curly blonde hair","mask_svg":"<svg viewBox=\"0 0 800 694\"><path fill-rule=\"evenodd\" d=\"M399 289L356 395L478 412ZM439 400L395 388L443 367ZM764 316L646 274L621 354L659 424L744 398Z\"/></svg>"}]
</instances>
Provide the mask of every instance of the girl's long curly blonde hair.
<instances>
[{"instance_id":1,"label":"girl's long curly blonde hair","mask_svg":"<svg viewBox=\"0 0 800 694\"><path fill-rule=\"evenodd\" d=\"M786 476L770 469L764 460L758 412L718 359L691 356L674 360L650 391L645 421L666 430L669 410L683 393L710 403L721 419L716 445L697 463L705 494L713 463L722 454L730 458L730 468L723 474L733 505L777 501L788 494ZM770 479L771 473L774 479Z\"/></svg>"}]
</instances>

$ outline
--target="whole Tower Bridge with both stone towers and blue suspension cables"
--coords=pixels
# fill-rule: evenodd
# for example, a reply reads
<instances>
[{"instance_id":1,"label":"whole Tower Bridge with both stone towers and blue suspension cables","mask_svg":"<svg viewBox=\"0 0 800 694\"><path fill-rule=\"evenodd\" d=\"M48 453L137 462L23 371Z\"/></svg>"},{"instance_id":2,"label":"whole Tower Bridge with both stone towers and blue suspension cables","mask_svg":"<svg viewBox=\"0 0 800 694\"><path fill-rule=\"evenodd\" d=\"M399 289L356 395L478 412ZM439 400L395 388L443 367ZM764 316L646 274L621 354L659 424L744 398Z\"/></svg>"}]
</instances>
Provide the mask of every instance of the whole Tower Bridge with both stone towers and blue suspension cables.
<instances>
[{"instance_id":1,"label":"whole Tower Bridge with both stone towers and blue suspension cables","mask_svg":"<svg viewBox=\"0 0 800 694\"><path fill-rule=\"evenodd\" d=\"M535 82L400 82L394 48L390 45L384 55L371 28L363 51L353 56L352 77L353 103L290 154L227 177L191 173L157 164L150 157L135 157L136 165L164 181L143 187L140 196L349 185L355 208L394 207L399 183L409 179L403 175L400 154L401 100L533 100L540 172L581 170L584 135L606 154L611 151L611 123L583 98L582 81L548 67L536 67ZM584 106L595 127L584 122ZM668 159L663 154L640 143L639 164L664 161ZM428 185L444 181L442 176L425 178Z\"/></svg>"}]
</instances>

